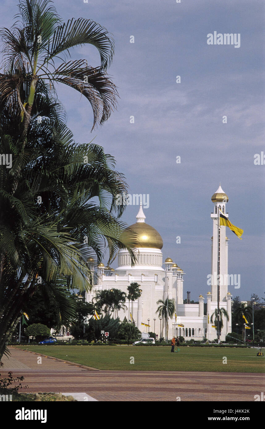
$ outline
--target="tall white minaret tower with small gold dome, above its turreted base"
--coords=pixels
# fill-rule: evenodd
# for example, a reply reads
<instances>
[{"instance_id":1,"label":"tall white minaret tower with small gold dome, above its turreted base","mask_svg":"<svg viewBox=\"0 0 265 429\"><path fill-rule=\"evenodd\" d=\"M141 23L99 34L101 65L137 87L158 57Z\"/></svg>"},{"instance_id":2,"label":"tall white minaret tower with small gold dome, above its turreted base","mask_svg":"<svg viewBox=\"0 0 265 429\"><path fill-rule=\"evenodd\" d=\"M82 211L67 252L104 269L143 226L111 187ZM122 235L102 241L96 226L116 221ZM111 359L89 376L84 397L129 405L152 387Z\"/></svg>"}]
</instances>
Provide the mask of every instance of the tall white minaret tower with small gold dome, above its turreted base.
<instances>
[{"instance_id":1,"label":"tall white minaret tower with small gold dome, above its turreted base","mask_svg":"<svg viewBox=\"0 0 265 429\"><path fill-rule=\"evenodd\" d=\"M228 202L228 196L222 190L221 184L219 188L212 196L212 202L214 204L213 213L211 218L213 219L213 237L212 237L212 281L211 281L211 294L212 301L217 302L217 251L218 251L218 231L217 231L217 213L218 207L223 214L228 218L226 213L226 204ZM228 292L227 288L227 274L228 274L228 239L225 234L225 227L219 227L220 230L220 303L226 301ZM221 304L220 304L221 305Z\"/></svg>"}]
</instances>

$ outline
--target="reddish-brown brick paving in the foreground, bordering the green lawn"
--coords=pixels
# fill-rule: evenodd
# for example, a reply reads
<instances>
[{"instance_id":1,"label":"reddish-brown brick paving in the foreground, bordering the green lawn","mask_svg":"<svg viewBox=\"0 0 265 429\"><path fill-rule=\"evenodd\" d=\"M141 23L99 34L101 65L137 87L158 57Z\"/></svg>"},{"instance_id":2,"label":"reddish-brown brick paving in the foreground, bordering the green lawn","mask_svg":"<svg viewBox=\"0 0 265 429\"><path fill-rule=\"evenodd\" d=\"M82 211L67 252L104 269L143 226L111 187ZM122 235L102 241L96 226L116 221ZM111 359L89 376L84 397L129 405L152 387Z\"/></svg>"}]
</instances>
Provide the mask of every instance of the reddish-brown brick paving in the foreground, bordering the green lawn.
<instances>
[{"instance_id":1,"label":"reddish-brown brick paving in the foreground, bordering the green lawn","mask_svg":"<svg viewBox=\"0 0 265 429\"><path fill-rule=\"evenodd\" d=\"M85 392L98 401L253 402L264 392L265 375L241 372L103 371L39 353L12 348L3 358L8 370L23 375L33 392ZM42 356L42 363L37 357Z\"/></svg>"}]
</instances>

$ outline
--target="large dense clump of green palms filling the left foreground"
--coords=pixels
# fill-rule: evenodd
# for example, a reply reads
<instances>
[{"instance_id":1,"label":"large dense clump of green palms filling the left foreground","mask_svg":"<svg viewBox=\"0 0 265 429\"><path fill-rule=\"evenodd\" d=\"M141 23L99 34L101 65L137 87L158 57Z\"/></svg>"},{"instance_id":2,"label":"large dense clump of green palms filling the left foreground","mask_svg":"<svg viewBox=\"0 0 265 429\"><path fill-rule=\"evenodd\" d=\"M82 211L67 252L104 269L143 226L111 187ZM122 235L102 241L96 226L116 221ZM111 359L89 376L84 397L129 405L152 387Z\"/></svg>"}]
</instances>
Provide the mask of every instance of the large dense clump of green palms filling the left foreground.
<instances>
[{"instance_id":1,"label":"large dense clump of green palms filling the left foreground","mask_svg":"<svg viewBox=\"0 0 265 429\"><path fill-rule=\"evenodd\" d=\"M136 238L114 216L117 212L119 218L125 208L116 205L117 193L127 189L123 175L113 169L113 157L104 154L101 147L75 144L62 120L60 103L45 77L37 76L41 70L38 61L47 49L42 68L52 85L58 75L56 70L54 74L48 72L49 61L71 46L88 42L91 24L81 20L82 26L80 20L72 20L58 27L58 17L49 3L21 0L22 21L27 25L2 32L9 71L0 75L0 151L13 155L13 165L10 169L0 166L0 358L21 311L37 288L53 291L63 322L73 313L67 304L67 290L91 288L88 279L93 264L88 260L92 256L101 262L108 248L111 263L119 248L127 248L132 262L135 260ZM90 36L100 47L99 27L93 28ZM39 35L41 43L46 43L44 51L37 46ZM101 60L105 55L106 63L106 55L109 53L110 58L112 50L104 44L107 35L101 36ZM72 82L71 86L80 90L81 84L67 76L56 79ZM93 88L92 92L99 91ZM102 91L94 103L104 103L108 92ZM107 118L106 103L104 109L101 121ZM90 201L94 196L99 198L99 206Z\"/></svg>"}]
</instances>

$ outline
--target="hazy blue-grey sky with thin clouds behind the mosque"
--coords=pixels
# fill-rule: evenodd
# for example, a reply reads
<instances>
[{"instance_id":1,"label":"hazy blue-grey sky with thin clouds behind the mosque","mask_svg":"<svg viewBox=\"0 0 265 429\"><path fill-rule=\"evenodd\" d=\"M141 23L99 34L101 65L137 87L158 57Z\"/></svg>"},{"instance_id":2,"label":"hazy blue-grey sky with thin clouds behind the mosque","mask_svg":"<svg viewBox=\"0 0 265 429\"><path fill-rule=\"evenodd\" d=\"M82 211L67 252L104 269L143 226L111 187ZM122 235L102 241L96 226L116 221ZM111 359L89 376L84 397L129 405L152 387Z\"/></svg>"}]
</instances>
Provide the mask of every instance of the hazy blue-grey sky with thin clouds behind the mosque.
<instances>
[{"instance_id":1,"label":"hazy blue-grey sky with thin clouds behind the mosque","mask_svg":"<svg viewBox=\"0 0 265 429\"><path fill-rule=\"evenodd\" d=\"M1 0L0 27L11 26L17 4ZM251 293L265 297L265 165L254 164L254 155L265 153L264 1L55 0L54 5L63 21L92 19L113 35L108 74L118 87L119 106L110 119L90 133L88 101L65 85L56 88L58 97L76 142L94 138L116 159L129 192L149 195L146 223L160 233L164 259L170 256L186 273L184 298L190 290L197 301L209 289L211 196L219 183L229 197L230 221L244 230L240 240L226 228L228 274L241 278L240 288L229 290L241 300ZM240 47L208 45L207 34L214 31L240 34ZM91 45L76 48L72 59L100 64ZM122 220L134 224L137 212L128 205Z\"/></svg>"}]
</instances>

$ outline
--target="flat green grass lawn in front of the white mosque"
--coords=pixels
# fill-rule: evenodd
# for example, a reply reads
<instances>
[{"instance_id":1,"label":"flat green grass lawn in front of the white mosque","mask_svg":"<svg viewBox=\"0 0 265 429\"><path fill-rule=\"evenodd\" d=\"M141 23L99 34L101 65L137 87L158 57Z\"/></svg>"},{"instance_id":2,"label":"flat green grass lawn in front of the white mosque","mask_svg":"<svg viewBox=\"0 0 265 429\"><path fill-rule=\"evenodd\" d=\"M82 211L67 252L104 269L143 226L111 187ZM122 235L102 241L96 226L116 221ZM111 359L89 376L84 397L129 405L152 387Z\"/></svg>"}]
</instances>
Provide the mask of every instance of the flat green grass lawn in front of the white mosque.
<instances>
[{"instance_id":1,"label":"flat green grass lawn in front of the white mosque","mask_svg":"<svg viewBox=\"0 0 265 429\"><path fill-rule=\"evenodd\" d=\"M214 371L265 372L264 357L257 349L180 347L171 353L171 346L20 346L48 356L106 370L131 371ZM227 364L223 357L227 357ZM134 357L134 364L130 364Z\"/></svg>"}]
</instances>

